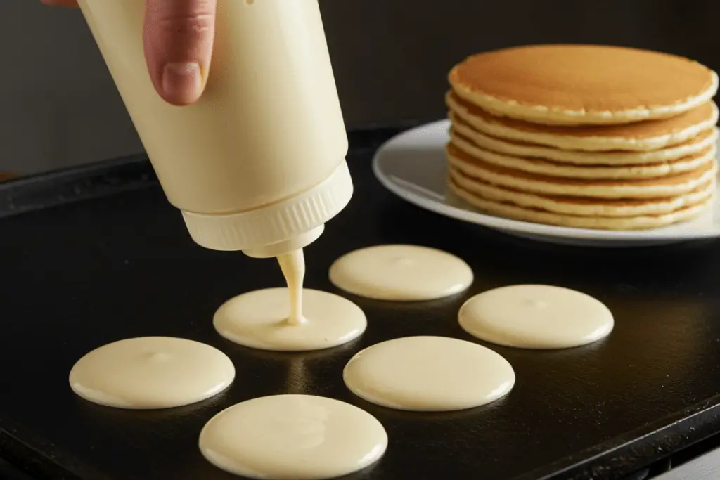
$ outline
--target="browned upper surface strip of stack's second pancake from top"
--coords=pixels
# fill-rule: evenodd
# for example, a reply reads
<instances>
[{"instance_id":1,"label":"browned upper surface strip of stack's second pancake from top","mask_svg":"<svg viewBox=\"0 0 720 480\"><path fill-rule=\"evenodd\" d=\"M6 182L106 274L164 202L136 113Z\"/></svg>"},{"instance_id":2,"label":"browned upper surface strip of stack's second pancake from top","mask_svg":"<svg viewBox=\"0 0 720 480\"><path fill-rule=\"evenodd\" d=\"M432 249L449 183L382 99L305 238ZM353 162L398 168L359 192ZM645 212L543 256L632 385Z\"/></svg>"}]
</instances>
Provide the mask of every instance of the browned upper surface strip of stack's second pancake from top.
<instances>
[{"instance_id":1,"label":"browned upper surface strip of stack's second pancake from top","mask_svg":"<svg viewBox=\"0 0 720 480\"><path fill-rule=\"evenodd\" d=\"M675 117L665 119L644 120L643 122L617 125L541 125L490 114L480 107L471 104L469 101L461 99L453 91L448 92L448 97L462 108L467 109L467 112L473 117L480 117L480 119L485 122L510 127L513 130L519 130L521 132L547 133L571 137L654 138L660 137L661 135L682 132L693 125L708 122L715 114L713 102L707 101L699 107L690 109Z\"/></svg>"}]
</instances>

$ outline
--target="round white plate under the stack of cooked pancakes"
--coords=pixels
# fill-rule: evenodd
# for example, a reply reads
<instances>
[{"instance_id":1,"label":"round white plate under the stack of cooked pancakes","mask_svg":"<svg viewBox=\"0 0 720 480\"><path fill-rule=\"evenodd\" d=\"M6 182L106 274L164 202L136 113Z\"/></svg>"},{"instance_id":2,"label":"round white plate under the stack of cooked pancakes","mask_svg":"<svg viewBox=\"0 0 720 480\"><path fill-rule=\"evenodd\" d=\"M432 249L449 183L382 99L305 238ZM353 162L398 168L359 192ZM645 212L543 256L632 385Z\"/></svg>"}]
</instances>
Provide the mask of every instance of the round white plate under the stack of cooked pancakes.
<instances>
[{"instance_id":1,"label":"round white plate under the stack of cooked pancakes","mask_svg":"<svg viewBox=\"0 0 720 480\"><path fill-rule=\"evenodd\" d=\"M701 217L654 230L614 231L554 227L483 214L446 189L445 144L448 120L403 132L388 140L373 158L381 184L418 207L509 235L565 245L632 247L720 237L720 194Z\"/></svg>"}]
</instances>

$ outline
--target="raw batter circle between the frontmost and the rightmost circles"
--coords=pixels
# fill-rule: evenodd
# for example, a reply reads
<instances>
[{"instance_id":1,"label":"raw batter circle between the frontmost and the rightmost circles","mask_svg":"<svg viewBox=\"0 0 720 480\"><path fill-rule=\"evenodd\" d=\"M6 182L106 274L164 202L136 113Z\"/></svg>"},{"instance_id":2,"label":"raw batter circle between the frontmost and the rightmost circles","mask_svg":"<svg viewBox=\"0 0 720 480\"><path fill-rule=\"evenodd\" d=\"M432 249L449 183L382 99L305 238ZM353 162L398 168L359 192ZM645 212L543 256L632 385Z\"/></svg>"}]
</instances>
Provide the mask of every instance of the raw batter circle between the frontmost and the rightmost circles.
<instances>
[{"instance_id":1,"label":"raw batter circle between the frontmost and the rightmost circles","mask_svg":"<svg viewBox=\"0 0 720 480\"><path fill-rule=\"evenodd\" d=\"M368 402L426 412L477 407L515 384L505 358L464 340L407 337L372 345L351 358L346 386Z\"/></svg>"}]
</instances>

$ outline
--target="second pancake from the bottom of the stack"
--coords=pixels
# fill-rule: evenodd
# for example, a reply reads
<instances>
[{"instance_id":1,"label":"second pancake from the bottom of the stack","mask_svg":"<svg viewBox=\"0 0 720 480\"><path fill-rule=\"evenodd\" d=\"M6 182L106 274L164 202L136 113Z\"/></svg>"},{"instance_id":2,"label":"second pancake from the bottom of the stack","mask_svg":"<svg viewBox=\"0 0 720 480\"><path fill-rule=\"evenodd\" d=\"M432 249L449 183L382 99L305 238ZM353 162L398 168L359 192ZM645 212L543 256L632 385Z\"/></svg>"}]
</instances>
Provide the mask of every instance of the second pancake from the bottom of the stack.
<instances>
[{"instance_id":1,"label":"second pancake from the bottom of the stack","mask_svg":"<svg viewBox=\"0 0 720 480\"><path fill-rule=\"evenodd\" d=\"M582 199L575 196L536 195L504 189L501 186L487 184L477 178L466 176L454 168L450 169L449 177L457 188L483 199L582 217L639 217L671 214L685 207L703 204L713 196L716 188L715 181L709 181L689 194L664 199Z\"/></svg>"}]
</instances>

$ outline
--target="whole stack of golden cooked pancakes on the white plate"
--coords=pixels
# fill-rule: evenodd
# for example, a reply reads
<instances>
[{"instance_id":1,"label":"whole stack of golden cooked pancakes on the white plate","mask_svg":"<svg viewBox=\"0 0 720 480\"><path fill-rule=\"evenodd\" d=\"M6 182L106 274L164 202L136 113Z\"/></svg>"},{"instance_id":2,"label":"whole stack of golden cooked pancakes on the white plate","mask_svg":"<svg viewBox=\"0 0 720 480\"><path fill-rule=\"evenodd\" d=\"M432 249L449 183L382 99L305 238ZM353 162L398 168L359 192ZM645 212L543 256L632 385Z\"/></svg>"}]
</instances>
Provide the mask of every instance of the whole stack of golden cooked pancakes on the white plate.
<instances>
[{"instance_id":1,"label":"whole stack of golden cooked pancakes on the white plate","mask_svg":"<svg viewBox=\"0 0 720 480\"><path fill-rule=\"evenodd\" d=\"M699 63L537 45L474 55L449 81L449 186L482 211L639 230L714 198L718 76Z\"/></svg>"}]
</instances>

